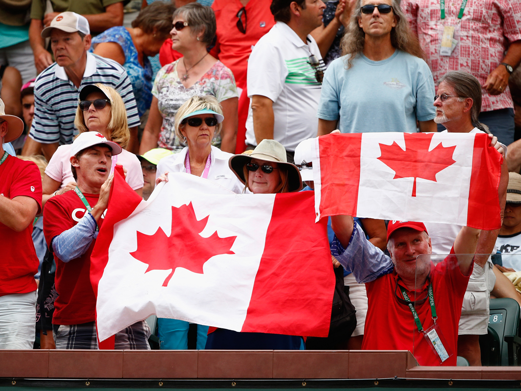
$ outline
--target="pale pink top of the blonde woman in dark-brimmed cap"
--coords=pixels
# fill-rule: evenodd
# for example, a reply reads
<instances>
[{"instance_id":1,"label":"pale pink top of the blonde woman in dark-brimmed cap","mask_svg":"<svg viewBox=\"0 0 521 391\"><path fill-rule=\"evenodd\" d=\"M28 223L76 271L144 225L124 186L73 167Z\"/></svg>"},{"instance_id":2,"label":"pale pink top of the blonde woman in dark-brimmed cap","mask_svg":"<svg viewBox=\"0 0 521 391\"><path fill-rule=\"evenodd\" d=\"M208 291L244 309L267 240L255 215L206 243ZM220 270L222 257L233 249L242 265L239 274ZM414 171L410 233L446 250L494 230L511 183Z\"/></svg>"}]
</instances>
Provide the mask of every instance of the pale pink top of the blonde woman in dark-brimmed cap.
<instances>
[{"instance_id":1,"label":"pale pink top of the blonde woman in dark-brimmed cap","mask_svg":"<svg viewBox=\"0 0 521 391\"><path fill-rule=\"evenodd\" d=\"M69 182L73 182L74 177L70 170L70 148L71 144L60 145L47 168L45 174L51 179L61 182L60 189L65 187ZM143 187L143 171L141 170L141 163L136 155L123 150L118 155L118 164L121 164L127 169L127 183L132 190L137 190Z\"/></svg>"}]
</instances>

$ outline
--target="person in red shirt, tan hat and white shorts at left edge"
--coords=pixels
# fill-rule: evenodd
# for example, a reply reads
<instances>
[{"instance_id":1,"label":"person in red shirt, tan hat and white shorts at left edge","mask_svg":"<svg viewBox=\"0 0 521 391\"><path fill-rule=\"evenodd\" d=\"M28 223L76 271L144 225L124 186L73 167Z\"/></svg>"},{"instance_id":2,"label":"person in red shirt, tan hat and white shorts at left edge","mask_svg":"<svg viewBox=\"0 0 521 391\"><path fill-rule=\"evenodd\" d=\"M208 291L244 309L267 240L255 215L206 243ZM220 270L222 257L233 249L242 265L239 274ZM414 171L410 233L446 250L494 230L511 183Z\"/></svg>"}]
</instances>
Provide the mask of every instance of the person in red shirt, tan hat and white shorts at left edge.
<instances>
[{"instance_id":1,"label":"person in red shirt, tan hat and white shorts at left edge","mask_svg":"<svg viewBox=\"0 0 521 391\"><path fill-rule=\"evenodd\" d=\"M23 122L5 115L0 99L2 143L18 138ZM10 156L0 143L0 349L32 349L38 256L31 238L41 211L42 180L32 162Z\"/></svg>"}]
</instances>

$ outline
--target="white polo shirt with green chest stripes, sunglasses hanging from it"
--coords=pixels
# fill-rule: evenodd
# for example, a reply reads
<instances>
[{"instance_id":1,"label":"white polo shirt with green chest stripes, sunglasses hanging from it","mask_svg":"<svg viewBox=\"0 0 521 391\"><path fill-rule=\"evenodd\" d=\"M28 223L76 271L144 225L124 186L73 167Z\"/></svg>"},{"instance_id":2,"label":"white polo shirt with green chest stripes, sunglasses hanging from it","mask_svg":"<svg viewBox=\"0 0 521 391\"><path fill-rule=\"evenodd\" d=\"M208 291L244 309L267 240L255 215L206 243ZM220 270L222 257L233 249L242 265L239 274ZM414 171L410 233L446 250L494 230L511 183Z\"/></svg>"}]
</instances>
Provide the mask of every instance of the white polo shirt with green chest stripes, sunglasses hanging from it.
<instances>
[{"instance_id":1,"label":"white polo shirt with green chest stripes, sunglasses hanging from it","mask_svg":"<svg viewBox=\"0 0 521 391\"><path fill-rule=\"evenodd\" d=\"M305 44L286 23L277 22L253 47L248 60L248 96L263 95L274 102L274 139L292 152L302 140L317 136L321 84L309 64L312 54L322 59L311 35ZM257 145L251 101L246 143Z\"/></svg>"}]
</instances>

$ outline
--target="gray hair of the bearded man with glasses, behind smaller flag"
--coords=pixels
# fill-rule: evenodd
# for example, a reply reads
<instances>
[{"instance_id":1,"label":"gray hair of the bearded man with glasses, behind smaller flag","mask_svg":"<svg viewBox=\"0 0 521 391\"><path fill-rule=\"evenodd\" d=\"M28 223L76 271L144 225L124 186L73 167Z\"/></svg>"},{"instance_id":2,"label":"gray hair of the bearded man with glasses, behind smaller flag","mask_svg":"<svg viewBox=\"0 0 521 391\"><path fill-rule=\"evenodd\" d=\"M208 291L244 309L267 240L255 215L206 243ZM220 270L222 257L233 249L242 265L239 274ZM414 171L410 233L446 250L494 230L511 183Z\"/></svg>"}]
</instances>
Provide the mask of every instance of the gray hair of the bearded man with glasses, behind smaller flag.
<instances>
[{"instance_id":1,"label":"gray hair of the bearded man with glasses, behind smaller flag","mask_svg":"<svg viewBox=\"0 0 521 391\"><path fill-rule=\"evenodd\" d=\"M467 98L473 100L474 103L470 109L472 125L485 133L490 133L488 126L479 122L479 113L481 113L481 84L479 80L467 72L453 70L443 75L440 83L442 81L454 89L458 96L458 102L463 102Z\"/></svg>"}]
</instances>

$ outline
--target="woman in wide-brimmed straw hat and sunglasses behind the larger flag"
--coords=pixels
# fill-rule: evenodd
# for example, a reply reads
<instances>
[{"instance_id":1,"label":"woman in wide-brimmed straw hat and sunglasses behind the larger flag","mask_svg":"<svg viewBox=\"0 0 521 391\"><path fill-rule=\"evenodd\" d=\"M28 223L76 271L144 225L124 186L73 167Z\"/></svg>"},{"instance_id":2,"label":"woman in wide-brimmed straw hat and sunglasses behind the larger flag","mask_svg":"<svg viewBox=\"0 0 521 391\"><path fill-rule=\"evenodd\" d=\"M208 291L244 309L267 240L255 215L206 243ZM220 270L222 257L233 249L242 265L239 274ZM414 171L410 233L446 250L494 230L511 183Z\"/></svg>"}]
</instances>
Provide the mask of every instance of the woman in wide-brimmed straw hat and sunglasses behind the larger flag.
<instances>
[{"instance_id":1,"label":"woman in wide-brimmed straw hat and sunglasses behind the larger flag","mask_svg":"<svg viewBox=\"0 0 521 391\"><path fill-rule=\"evenodd\" d=\"M254 194L299 191L302 180L299 169L286 160L286 149L275 140L261 141L251 155L234 155L229 165L235 175ZM238 333L217 328L208 334L206 349L304 349L300 336Z\"/></svg>"}]
</instances>

